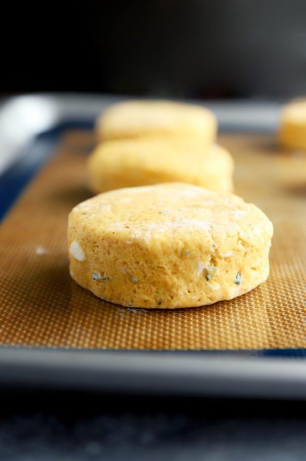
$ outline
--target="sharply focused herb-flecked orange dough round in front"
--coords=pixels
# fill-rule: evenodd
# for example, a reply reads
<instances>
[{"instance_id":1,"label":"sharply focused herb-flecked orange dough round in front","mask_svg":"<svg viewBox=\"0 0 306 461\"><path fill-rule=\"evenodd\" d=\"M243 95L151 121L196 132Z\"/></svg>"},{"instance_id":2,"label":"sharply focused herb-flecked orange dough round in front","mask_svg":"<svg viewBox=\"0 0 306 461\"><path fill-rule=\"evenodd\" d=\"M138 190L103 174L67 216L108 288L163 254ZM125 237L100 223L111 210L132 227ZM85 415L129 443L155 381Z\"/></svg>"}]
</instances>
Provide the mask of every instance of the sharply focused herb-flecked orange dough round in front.
<instances>
[{"instance_id":1,"label":"sharply focused herb-flecked orange dough round in front","mask_svg":"<svg viewBox=\"0 0 306 461\"><path fill-rule=\"evenodd\" d=\"M70 213L70 273L123 306L202 306L267 279L272 233L236 195L182 183L118 189Z\"/></svg>"}]
</instances>

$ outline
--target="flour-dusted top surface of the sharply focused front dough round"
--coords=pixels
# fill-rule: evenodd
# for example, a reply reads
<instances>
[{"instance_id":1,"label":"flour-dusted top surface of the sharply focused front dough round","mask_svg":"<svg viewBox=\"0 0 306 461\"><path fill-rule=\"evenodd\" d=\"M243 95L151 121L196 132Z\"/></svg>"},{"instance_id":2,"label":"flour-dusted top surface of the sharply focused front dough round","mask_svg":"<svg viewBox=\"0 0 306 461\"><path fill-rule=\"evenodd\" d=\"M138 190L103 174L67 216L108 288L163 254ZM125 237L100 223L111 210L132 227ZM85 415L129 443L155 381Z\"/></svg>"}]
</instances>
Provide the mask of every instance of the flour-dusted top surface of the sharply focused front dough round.
<instances>
[{"instance_id":1,"label":"flour-dusted top surface of the sharply focused front dough round","mask_svg":"<svg viewBox=\"0 0 306 461\"><path fill-rule=\"evenodd\" d=\"M127 240L222 239L239 234L247 241L272 236L272 224L240 197L202 187L168 183L117 189L77 205L70 220L86 233ZM170 238L169 238L170 237Z\"/></svg>"}]
</instances>

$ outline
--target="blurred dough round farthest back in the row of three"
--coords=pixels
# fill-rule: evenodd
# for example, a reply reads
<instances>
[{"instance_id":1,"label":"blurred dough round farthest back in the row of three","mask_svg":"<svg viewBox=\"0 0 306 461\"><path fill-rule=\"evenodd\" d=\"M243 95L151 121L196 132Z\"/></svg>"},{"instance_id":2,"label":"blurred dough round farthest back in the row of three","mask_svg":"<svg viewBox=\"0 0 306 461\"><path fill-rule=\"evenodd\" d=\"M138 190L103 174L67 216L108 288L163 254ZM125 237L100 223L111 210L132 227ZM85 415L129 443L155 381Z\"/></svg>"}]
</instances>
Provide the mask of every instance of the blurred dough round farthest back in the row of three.
<instances>
[{"instance_id":1,"label":"blurred dough round farthest back in the row of three","mask_svg":"<svg viewBox=\"0 0 306 461\"><path fill-rule=\"evenodd\" d=\"M196 137L209 144L216 138L217 120L209 109L195 104L125 101L108 108L97 123L97 138Z\"/></svg>"}]
</instances>

